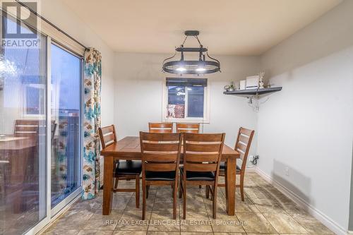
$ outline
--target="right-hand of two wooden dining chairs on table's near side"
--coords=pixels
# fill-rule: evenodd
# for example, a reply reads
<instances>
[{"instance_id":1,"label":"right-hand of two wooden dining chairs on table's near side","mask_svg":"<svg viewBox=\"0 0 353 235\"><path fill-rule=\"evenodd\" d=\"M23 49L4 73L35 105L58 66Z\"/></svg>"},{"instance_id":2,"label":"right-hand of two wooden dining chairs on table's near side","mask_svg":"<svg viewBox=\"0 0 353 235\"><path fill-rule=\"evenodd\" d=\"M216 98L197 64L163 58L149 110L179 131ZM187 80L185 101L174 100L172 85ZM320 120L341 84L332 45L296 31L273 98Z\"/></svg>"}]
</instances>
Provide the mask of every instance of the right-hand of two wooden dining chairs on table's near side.
<instances>
[{"instance_id":1,"label":"right-hand of two wooden dining chairs on table's near side","mask_svg":"<svg viewBox=\"0 0 353 235\"><path fill-rule=\"evenodd\" d=\"M183 200L183 219L186 219L186 184L205 185L206 198L209 192L213 200L213 218L217 211L217 181L220 171L225 133L195 134L184 133L184 166L180 169L181 180L179 185L179 198ZM212 187L212 188L211 188Z\"/></svg>"}]
</instances>

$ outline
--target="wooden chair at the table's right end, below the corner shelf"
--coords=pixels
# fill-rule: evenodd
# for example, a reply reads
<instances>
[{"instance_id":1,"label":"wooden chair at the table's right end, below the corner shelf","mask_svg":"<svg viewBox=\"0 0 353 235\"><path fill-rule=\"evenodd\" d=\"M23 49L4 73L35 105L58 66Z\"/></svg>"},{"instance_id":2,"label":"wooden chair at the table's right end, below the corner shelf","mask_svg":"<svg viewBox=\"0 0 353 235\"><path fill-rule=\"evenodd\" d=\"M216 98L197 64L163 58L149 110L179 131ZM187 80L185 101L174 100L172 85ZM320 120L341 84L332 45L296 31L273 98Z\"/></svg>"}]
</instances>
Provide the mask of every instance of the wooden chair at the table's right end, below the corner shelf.
<instances>
[{"instance_id":1,"label":"wooden chair at the table's right end, below the corner shelf","mask_svg":"<svg viewBox=\"0 0 353 235\"><path fill-rule=\"evenodd\" d=\"M237 165L237 174L240 175L240 184L235 183L236 188L240 188L241 200L244 201L244 176L245 167L249 155L249 149L251 145L251 140L253 140L253 133L255 131L246 128L239 128L237 142L235 143L234 150L240 153L241 167ZM226 163L221 162L220 164L220 176L225 176ZM225 187L224 183L219 183L218 186Z\"/></svg>"}]
</instances>

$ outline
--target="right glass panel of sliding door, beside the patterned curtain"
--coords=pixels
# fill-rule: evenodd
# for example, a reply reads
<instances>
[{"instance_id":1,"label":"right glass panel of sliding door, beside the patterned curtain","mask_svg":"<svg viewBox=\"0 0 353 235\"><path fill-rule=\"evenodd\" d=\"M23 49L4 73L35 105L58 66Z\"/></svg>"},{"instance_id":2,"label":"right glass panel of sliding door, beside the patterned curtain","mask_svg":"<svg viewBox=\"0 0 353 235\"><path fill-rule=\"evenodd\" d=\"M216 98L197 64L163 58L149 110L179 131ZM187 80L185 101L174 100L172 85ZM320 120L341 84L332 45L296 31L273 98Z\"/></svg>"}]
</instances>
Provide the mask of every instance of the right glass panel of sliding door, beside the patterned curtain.
<instances>
[{"instance_id":1,"label":"right glass panel of sliding door, beside the patterned curtain","mask_svg":"<svg viewBox=\"0 0 353 235\"><path fill-rule=\"evenodd\" d=\"M51 45L52 208L80 186L81 60Z\"/></svg>"}]
</instances>

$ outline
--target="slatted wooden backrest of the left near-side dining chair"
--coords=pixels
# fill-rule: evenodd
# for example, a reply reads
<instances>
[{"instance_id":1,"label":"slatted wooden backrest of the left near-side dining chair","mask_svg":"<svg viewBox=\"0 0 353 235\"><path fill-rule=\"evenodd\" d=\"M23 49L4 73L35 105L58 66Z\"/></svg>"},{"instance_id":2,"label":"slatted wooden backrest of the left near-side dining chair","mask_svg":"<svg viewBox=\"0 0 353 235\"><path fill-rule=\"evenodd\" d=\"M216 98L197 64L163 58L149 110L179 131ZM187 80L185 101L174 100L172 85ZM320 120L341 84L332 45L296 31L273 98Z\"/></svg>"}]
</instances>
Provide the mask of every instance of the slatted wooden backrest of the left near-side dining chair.
<instances>
[{"instance_id":1,"label":"slatted wooden backrest of the left near-side dining chair","mask_svg":"<svg viewBox=\"0 0 353 235\"><path fill-rule=\"evenodd\" d=\"M180 161L181 133L140 131L140 148L143 177L145 171L176 171L177 173Z\"/></svg>"}]
</instances>

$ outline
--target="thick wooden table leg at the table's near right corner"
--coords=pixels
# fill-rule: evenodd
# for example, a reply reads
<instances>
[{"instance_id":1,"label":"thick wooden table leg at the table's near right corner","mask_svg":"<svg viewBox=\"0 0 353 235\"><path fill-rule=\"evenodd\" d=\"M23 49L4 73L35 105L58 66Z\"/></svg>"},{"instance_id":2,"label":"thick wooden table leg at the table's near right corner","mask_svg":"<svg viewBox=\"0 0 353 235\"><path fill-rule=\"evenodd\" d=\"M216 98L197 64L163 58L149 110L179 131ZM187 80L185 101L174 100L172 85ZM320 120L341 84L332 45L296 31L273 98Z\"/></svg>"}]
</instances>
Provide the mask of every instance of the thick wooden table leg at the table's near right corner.
<instances>
[{"instance_id":1,"label":"thick wooden table leg at the table's near right corner","mask_svg":"<svg viewBox=\"0 0 353 235\"><path fill-rule=\"evenodd\" d=\"M227 159L227 169L225 171L225 195L227 201L227 214L235 215L235 169L236 159Z\"/></svg>"}]
</instances>

